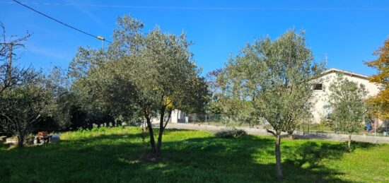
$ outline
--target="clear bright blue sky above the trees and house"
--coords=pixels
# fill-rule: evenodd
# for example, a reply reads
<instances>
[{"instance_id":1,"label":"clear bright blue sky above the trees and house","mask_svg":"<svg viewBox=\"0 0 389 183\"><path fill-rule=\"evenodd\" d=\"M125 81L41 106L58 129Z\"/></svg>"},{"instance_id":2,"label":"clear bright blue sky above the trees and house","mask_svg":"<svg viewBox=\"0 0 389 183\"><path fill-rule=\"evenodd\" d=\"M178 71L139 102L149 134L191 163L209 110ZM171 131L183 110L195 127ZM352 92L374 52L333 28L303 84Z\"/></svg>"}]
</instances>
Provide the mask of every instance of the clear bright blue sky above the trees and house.
<instances>
[{"instance_id":1,"label":"clear bright blue sky above the trees and house","mask_svg":"<svg viewBox=\"0 0 389 183\"><path fill-rule=\"evenodd\" d=\"M389 1L49 1L19 0L93 35L112 40L117 16L131 14L167 33L187 33L194 59L203 73L223 67L247 42L286 30L306 30L315 60L327 66L370 75L364 65L389 36ZM17 63L35 68L66 69L77 47L101 47L101 41L64 27L11 0L0 0L0 21L7 35L33 33L19 50Z\"/></svg>"}]
</instances>

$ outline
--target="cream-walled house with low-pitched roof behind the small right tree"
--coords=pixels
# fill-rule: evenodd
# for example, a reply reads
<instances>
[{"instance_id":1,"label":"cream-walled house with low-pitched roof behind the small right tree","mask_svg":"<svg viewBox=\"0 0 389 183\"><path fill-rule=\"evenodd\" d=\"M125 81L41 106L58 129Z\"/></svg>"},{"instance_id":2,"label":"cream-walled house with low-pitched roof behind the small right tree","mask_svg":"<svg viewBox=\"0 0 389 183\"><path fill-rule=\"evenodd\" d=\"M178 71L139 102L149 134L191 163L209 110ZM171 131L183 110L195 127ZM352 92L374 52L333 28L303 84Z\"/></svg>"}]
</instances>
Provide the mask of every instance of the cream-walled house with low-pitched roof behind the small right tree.
<instances>
[{"instance_id":1,"label":"cream-walled house with low-pitched roof behind the small right tree","mask_svg":"<svg viewBox=\"0 0 389 183\"><path fill-rule=\"evenodd\" d=\"M316 83L314 83L314 92L313 100L315 105L313 107L313 123L320 123L320 121L327 116L328 111L325 108L325 105L328 104L328 96L330 95L329 87L333 81L337 78L337 73L342 73L344 78L347 78L349 81L354 81L359 84L364 84L366 90L368 91L368 96L371 97L377 95L381 90L381 85L378 83L371 83L368 81L368 76L359 73L352 73L349 71L343 71L340 69L328 69L324 71L322 75L318 78ZM375 119L377 124L382 124L381 120Z\"/></svg>"}]
</instances>

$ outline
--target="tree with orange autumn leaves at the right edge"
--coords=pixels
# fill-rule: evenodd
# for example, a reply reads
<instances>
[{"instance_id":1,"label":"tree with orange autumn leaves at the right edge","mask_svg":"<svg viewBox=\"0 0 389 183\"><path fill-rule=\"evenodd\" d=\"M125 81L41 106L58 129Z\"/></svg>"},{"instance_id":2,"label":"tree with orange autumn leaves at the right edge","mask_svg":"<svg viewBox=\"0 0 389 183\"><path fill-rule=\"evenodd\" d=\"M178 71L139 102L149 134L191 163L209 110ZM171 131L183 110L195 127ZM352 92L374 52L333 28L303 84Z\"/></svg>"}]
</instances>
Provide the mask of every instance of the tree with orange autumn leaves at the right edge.
<instances>
[{"instance_id":1,"label":"tree with orange autumn leaves at the right edge","mask_svg":"<svg viewBox=\"0 0 389 183\"><path fill-rule=\"evenodd\" d=\"M379 119L389 119L389 38L385 40L383 47L380 47L373 53L378 56L378 59L366 62L370 66L378 70L369 78L371 82L381 83L383 90L370 99L372 104L372 114Z\"/></svg>"}]
</instances>

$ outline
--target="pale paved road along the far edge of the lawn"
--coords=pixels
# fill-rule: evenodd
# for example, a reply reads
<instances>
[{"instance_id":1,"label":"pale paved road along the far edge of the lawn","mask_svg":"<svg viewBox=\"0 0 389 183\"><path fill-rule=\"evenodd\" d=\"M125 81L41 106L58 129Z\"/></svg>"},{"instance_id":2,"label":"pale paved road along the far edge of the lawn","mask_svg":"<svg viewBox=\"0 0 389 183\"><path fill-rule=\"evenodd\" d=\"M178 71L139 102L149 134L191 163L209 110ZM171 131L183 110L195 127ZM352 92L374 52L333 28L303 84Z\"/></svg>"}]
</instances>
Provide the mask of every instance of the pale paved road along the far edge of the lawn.
<instances>
[{"instance_id":1,"label":"pale paved road along the far edge of the lawn","mask_svg":"<svg viewBox=\"0 0 389 183\"><path fill-rule=\"evenodd\" d=\"M185 124L185 123L169 123L166 126L168 129L190 129L190 130L205 130L205 131L219 131L221 129L231 129L226 126L213 126L204 124ZM248 127L236 127L236 129L243 129L248 134L258 136L272 136L266 129L248 128ZM283 134L286 136L286 134ZM295 132L294 137L305 139L325 139L329 141L348 141L349 136L345 134L327 134L327 133L310 133L302 134L302 132ZM369 142L369 143L389 143L389 137L384 136L366 136L366 135L353 135L353 141Z\"/></svg>"}]
</instances>

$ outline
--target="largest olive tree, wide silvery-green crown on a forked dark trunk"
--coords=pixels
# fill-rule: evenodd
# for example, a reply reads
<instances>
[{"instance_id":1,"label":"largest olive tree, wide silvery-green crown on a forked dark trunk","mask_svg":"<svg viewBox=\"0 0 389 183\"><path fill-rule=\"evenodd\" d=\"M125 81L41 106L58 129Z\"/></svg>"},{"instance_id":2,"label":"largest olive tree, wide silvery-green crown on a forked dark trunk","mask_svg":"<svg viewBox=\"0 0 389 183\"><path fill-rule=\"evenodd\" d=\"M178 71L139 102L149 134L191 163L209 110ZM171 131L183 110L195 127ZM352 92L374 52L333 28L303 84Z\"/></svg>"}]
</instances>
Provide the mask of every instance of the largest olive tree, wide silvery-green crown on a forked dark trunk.
<instances>
[{"instance_id":1,"label":"largest olive tree, wide silvery-green crown on a forked dark trunk","mask_svg":"<svg viewBox=\"0 0 389 183\"><path fill-rule=\"evenodd\" d=\"M143 23L130 16L118 18L112 45L106 50L80 49L69 73L74 88L90 101L87 105L107 109L115 117L146 119L156 160L171 112L202 110L208 90L185 34L166 34L159 28L145 34L141 28ZM152 119L159 121L157 141Z\"/></svg>"}]
</instances>

